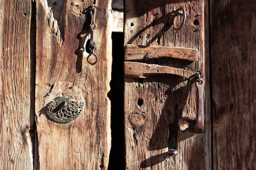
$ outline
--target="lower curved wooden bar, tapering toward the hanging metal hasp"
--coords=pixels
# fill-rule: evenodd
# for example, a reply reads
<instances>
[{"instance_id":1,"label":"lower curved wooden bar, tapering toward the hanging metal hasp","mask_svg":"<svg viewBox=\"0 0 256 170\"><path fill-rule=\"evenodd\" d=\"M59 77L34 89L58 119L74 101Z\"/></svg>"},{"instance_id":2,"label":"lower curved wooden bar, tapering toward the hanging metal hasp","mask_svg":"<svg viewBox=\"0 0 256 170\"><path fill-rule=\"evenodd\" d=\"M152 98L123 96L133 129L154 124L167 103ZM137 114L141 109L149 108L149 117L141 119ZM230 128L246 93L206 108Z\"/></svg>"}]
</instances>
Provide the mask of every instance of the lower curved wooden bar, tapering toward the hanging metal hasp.
<instances>
[{"instance_id":1,"label":"lower curved wooden bar, tapering toward the hanging metal hasp","mask_svg":"<svg viewBox=\"0 0 256 170\"><path fill-rule=\"evenodd\" d=\"M174 74L185 78L191 77L194 73L170 66L159 66L157 64L146 64L139 62L124 62L124 75L133 78L147 78L155 74Z\"/></svg>"}]
</instances>

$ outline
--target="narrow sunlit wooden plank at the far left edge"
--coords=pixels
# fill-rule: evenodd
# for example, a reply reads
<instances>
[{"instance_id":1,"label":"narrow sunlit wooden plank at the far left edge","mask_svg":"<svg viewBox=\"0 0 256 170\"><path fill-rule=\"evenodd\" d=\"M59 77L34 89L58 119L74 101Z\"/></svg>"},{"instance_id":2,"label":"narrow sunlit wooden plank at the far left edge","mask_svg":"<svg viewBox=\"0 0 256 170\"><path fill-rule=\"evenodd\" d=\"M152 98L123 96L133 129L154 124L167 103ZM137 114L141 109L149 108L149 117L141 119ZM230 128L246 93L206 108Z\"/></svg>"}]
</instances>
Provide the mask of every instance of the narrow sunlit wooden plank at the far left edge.
<instances>
[{"instance_id":1,"label":"narrow sunlit wooden plank at the far left edge","mask_svg":"<svg viewBox=\"0 0 256 170\"><path fill-rule=\"evenodd\" d=\"M30 122L31 1L0 1L0 169L33 170Z\"/></svg>"}]
</instances>

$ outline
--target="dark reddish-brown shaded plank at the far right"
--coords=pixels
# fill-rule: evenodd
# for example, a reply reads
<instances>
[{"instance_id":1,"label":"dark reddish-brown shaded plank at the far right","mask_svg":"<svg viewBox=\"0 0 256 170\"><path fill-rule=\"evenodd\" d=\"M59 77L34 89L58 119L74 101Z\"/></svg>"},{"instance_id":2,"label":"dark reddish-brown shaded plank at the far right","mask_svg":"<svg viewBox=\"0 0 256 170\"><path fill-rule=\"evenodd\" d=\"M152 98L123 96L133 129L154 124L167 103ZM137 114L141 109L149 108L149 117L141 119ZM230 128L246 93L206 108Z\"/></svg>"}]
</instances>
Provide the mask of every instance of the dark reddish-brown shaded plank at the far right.
<instances>
[{"instance_id":1,"label":"dark reddish-brown shaded plank at the far right","mask_svg":"<svg viewBox=\"0 0 256 170\"><path fill-rule=\"evenodd\" d=\"M255 18L256 1L211 1L213 168L216 170L256 169Z\"/></svg>"}]
</instances>

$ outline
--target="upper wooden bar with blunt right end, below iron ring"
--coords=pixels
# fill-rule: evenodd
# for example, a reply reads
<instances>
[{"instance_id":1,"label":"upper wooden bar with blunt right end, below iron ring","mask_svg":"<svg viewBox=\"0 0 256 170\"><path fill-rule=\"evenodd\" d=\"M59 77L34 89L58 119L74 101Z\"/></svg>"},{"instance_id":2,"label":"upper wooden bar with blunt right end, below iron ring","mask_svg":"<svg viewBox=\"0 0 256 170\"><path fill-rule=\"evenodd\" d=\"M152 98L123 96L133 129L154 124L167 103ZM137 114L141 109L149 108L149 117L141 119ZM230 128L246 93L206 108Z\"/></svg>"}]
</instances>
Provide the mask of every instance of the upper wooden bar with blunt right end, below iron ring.
<instances>
[{"instance_id":1,"label":"upper wooden bar with blunt right end, below iron ring","mask_svg":"<svg viewBox=\"0 0 256 170\"><path fill-rule=\"evenodd\" d=\"M178 58L182 60L198 60L198 50L173 46L146 46L126 44L124 60L143 60L153 58Z\"/></svg>"}]
</instances>

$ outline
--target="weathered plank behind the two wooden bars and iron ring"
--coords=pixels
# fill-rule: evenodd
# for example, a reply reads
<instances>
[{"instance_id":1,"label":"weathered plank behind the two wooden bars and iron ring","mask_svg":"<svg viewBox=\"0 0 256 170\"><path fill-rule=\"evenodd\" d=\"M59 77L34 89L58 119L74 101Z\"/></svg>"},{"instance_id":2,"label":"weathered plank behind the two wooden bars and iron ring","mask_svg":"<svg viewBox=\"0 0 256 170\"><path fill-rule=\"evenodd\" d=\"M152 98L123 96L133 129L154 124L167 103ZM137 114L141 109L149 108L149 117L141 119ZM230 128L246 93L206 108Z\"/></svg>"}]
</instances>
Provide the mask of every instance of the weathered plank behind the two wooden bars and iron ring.
<instances>
[{"instance_id":1,"label":"weathered plank behind the two wooden bars and iron ring","mask_svg":"<svg viewBox=\"0 0 256 170\"><path fill-rule=\"evenodd\" d=\"M174 9L183 7L187 20L180 31L173 29ZM206 13L205 13L206 12ZM126 0L124 45L173 46L198 50L198 61L157 58L147 64L201 71L205 82L205 131L193 133L195 79L155 75L146 79L125 77L124 123L127 170L211 169L211 114L209 104L209 57L204 51L203 0ZM182 20L179 18L178 20ZM180 23L176 23L180 24ZM207 48L208 49L208 48ZM209 50L209 49L208 49ZM177 126L178 155L168 151L169 126ZM173 138L173 136L170 136Z\"/></svg>"}]
</instances>

